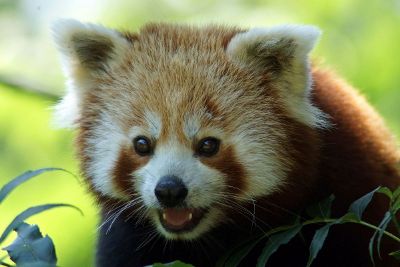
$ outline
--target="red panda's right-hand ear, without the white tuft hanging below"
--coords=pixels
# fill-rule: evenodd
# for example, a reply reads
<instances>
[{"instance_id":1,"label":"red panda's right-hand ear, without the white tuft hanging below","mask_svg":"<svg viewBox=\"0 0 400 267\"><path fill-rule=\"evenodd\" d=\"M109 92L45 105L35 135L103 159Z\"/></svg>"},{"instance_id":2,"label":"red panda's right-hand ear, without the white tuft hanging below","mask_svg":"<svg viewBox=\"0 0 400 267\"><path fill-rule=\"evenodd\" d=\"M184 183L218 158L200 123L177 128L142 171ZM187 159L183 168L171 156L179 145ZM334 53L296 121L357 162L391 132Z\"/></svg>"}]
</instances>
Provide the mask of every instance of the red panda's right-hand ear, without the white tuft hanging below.
<instances>
[{"instance_id":1,"label":"red panda's right-hand ear, without the white tuft hanging below","mask_svg":"<svg viewBox=\"0 0 400 267\"><path fill-rule=\"evenodd\" d=\"M227 46L227 53L237 64L268 73L273 79L296 78L295 87L302 88L292 90L304 91L308 85L308 54L319 35L320 30L314 26L256 28L234 36ZM285 77L289 75L291 78ZM301 84L299 80L302 80Z\"/></svg>"}]
</instances>

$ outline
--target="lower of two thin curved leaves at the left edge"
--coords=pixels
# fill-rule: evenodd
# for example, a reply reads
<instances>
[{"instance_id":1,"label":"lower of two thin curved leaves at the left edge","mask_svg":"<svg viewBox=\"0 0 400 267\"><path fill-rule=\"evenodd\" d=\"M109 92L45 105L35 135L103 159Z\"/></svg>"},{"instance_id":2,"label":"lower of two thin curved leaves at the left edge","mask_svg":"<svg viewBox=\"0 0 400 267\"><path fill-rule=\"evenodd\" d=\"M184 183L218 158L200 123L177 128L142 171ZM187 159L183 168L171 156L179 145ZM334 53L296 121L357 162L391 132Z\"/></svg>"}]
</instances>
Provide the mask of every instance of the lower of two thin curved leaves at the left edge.
<instances>
[{"instance_id":1,"label":"lower of two thin curved leaves at the left edge","mask_svg":"<svg viewBox=\"0 0 400 267\"><path fill-rule=\"evenodd\" d=\"M62 203L61 204L45 204L45 205L30 207L30 208L24 210L23 212L21 212L19 215L17 215L17 217L15 217L14 220L7 226L7 228L4 230L3 234L0 236L0 244L4 241L4 239L6 239L6 237L10 234L10 232L13 229L16 229L21 223L23 223L29 217L36 215L38 213L41 213L43 211L53 209L53 208L58 208L58 207L74 208L74 209L78 210L81 214L83 214L82 211L78 207L76 207L74 205L70 205L70 204L62 204Z\"/></svg>"}]
</instances>

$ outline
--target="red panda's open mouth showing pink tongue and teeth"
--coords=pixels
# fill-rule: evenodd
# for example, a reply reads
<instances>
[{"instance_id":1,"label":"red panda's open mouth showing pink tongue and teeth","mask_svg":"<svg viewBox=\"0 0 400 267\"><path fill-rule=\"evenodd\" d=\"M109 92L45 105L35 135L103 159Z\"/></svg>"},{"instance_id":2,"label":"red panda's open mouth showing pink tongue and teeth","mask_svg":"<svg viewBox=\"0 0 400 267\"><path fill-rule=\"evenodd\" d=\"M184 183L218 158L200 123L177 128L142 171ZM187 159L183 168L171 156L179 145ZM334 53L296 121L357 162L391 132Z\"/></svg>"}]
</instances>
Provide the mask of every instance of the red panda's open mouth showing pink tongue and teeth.
<instances>
[{"instance_id":1,"label":"red panda's open mouth showing pink tongue and teeth","mask_svg":"<svg viewBox=\"0 0 400 267\"><path fill-rule=\"evenodd\" d=\"M193 208L165 208L159 210L163 227L174 233L188 232L195 228L204 217L206 210Z\"/></svg>"}]
</instances>

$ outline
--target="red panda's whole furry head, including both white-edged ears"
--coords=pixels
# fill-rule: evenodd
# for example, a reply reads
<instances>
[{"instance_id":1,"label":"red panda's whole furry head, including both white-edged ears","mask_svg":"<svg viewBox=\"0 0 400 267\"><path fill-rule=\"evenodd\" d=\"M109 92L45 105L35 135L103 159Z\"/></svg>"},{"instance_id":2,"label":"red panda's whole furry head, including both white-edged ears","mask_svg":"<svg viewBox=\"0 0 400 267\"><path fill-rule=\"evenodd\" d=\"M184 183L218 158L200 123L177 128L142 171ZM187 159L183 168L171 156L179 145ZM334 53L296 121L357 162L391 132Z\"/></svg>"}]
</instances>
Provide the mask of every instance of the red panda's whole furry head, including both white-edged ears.
<instances>
[{"instance_id":1,"label":"red panda's whole furry head, including both white-edged ears","mask_svg":"<svg viewBox=\"0 0 400 267\"><path fill-rule=\"evenodd\" d=\"M197 238L279 191L297 164L291 125L325 125L310 102L314 27L54 32L69 82L56 115L78 128L85 177L166 238Z\"/></svg>"}]
</instances>

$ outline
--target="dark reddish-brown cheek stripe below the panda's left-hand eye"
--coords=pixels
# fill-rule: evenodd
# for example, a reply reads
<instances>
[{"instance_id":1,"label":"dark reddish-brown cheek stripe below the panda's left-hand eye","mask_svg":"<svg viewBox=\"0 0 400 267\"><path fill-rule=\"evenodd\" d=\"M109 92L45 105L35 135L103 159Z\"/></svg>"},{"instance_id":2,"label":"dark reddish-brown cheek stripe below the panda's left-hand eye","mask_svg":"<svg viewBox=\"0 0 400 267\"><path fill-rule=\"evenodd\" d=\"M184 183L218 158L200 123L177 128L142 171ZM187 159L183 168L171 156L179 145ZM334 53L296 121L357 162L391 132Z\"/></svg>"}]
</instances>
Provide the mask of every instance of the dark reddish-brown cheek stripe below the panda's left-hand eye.
<instances>
[{"instance_id":1,"label":"dark reddish-brown cheek stripe below the panda's left-hand eye","mask_svg":"<svg viewBox=\"0 0 400 267\"><path fill-rule=\"evenodd\" d=\"M113 184L124 195L134 194L134 177L132 173L149 161L149 157L141 157L129 147L120 150L113 172Z\"/></svg>"}]
</instances>

